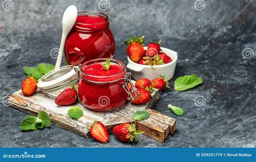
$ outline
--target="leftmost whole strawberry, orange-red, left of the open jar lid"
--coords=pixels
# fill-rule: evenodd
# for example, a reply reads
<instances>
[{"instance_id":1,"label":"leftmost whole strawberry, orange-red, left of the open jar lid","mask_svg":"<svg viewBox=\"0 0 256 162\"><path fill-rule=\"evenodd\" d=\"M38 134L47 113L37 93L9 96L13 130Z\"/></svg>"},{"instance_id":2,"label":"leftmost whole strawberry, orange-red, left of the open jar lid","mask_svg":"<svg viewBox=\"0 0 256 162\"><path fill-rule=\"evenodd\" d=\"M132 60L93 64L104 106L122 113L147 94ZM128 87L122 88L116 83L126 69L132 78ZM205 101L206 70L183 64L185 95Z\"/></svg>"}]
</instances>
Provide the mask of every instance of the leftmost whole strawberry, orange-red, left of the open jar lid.
<instances>
[{"instance_id":1,"label":"leftmost whole strawberry, orange-red, left of the open jar lid","mask_svg":"<svg viewBox=\"0 0 256 162\"><path fill-rule=\"evenodd\" d=\"M25 96L31 96L37 90L36 80L32 77L26 78L22 82L22 93Z\"/></svg>"}]
</instances>

